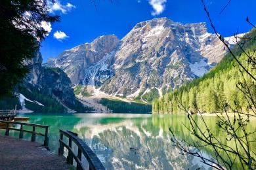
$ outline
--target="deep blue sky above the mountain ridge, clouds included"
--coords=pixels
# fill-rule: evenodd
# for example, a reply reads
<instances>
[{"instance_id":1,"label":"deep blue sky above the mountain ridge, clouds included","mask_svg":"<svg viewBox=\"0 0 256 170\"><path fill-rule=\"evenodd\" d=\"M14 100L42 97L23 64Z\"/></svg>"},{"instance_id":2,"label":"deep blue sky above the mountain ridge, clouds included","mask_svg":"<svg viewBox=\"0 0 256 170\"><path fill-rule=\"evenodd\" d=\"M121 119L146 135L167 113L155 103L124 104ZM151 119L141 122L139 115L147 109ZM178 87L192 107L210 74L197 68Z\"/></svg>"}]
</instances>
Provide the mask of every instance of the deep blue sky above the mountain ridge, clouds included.
<instances>
[{"instance_id":1,"label":"deep blue sky above the mountain ridge, clouds included","mask_svg":"<svg viewBox=\"0 0 256 170\"><path fill-rule=\"evenodd\" d=\"M217 30L224 37L251 29L245 22L249 16L256 24L255 0L205 0ZM60 22L44 23L49 35L41 43L43 62L60 52L91 42L100 35L115 34L122 39L138 22L167 17L183 24L206 22L212 33L201 0L58 0L49 3L51 12L60 15Z\"/></svg>"}]
</instances>

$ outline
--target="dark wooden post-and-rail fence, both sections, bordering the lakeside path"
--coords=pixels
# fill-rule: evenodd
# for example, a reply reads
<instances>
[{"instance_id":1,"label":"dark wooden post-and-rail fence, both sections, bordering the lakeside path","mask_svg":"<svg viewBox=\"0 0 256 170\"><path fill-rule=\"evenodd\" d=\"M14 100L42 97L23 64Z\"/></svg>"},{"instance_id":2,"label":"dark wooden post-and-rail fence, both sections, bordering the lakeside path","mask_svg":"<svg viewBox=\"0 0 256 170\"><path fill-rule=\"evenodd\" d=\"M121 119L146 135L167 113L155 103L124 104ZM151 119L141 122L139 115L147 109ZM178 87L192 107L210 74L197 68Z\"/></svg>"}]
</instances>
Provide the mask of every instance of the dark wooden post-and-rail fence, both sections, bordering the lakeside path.
<instances>
[{"instance_id":1,"label":"dark wooden post-and-rail fence, both sections, bordering the lakeside path","mask_svg":"<svg viewBox=\"0 0 256 170\"><path fill-rule=\"evenodd\" d=\"M45 137L43 146L49 148L49 137L48 137L48 129L49 126L39 125L39 124L30 124L25 122L12 122L12 121L5 121L0 120L0 129L5 129L5 135L9 136L10 130L13 131L20 131L19 138L22 139L24 132L25 133L32 133L31 141L35 142L35 136L40 135ZM15 127L14 125L20 125L20 127ZM25 126L32 127L32 131L28 129L24 129ZM45 129L45 133L39 133L36 131L36 128L43 128ZM68 144L66 144L63 140L63 137L68 138ZM64 131L60 129L60 147L58 148L58 153L60 155L64 154L64 147L68 149L68 156L67 156L67 163L73 165L73 160L76 161L77 169L85 169L82 164L82 155L86 158L89 163L89 169L96 169L96 170L103 170L105 169L102 165L101 161L98 159L96 154L89 148L87 144L85 144L79 137L77 137L76 133L72 131ZM72 142L77 146L77 154L72 150Z\"/></svg>"}]
</instances>

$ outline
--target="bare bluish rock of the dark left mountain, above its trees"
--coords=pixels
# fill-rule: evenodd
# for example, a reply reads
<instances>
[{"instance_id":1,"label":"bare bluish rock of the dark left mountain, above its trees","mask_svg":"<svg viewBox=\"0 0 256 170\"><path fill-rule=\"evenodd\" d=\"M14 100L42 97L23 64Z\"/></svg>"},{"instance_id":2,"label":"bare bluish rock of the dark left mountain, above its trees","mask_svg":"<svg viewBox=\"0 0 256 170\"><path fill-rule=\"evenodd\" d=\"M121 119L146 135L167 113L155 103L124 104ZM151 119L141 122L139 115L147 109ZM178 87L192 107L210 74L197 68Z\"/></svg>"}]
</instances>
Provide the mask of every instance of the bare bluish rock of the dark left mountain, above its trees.
<instances>
[{"instance_id":1,"label":"bare bluish rock of the dark left mountain, above its trees","mask_svg":"<svg viewBox=\"0 0 256 170\"><path fill-rule=\"evenodd\" d=\"M30 73L26 76L24 83L27 87L33 87L48 95L54 95L64 103L75 104L75 95L71 88L70 78L61 69L49 69L43 67L41 54L26 61L31 67Z\"/></svg>"}]
</instances>

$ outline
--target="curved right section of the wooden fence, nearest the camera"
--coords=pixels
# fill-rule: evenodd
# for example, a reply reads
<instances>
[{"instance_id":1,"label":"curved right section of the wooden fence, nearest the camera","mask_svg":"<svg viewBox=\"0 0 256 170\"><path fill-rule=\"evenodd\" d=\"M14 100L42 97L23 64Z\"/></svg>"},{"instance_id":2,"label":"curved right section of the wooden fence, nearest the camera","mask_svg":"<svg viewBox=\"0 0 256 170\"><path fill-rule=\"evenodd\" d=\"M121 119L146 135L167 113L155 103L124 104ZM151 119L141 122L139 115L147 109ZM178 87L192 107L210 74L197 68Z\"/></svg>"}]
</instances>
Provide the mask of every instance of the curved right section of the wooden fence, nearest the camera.
<instances>
[{"instance_id":1,"label":"curved right section of the wooden fence, nearest the camera","mask_svg":"<svg viewBox=\"0 0 256 170\"><path fill-rule=\"evenodd\" d=\"M68 144L66 144L63 141L63 136L68 137ZM98 160L98 157L96 154L89 148L87 144L85 144L79 137L77 137L76 133L73 133L72 131L64 131L60 129L60 148L58 148L58 153L60 155L64 154L64 147L68 149L68 157L67 157L67 163L73 165L73 159L77 163L77 169L85 169L82 165L82 154L85 156L86 160L89 163L89 169L96 169L101 170L105 169L102 165L101 161ZM77 154L74 153L72 150L72 142L74 142L77 145Z\"/></svg>"}]
</instances>

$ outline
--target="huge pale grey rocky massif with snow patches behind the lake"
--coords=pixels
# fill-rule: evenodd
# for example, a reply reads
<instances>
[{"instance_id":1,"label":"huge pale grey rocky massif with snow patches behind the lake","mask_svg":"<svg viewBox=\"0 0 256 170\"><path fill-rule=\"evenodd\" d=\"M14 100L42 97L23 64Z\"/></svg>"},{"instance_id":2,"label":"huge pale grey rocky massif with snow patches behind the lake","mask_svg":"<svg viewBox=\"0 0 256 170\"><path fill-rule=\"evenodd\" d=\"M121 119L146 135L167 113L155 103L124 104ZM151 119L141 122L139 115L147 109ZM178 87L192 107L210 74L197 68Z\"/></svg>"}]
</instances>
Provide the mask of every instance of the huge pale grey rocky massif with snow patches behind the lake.
<instances>
[{"instance_id":1,"label":"huge pale grey rocky massif with snow patches behind the lake","mask_svg":"<svg viewBox=\"0 0 256 170\"><path fill-rule=\"evenodd\" d=\"M146 101L207 73L225 54L205 23L181 24L168 18L140 22L119 41L98 37L49 59L73 84L93 85L110 95Z\"/></svg>"}]
</instances>

